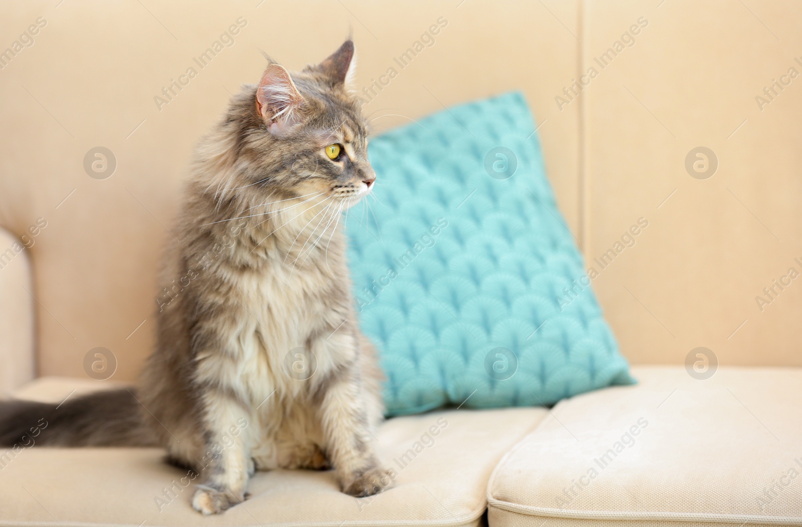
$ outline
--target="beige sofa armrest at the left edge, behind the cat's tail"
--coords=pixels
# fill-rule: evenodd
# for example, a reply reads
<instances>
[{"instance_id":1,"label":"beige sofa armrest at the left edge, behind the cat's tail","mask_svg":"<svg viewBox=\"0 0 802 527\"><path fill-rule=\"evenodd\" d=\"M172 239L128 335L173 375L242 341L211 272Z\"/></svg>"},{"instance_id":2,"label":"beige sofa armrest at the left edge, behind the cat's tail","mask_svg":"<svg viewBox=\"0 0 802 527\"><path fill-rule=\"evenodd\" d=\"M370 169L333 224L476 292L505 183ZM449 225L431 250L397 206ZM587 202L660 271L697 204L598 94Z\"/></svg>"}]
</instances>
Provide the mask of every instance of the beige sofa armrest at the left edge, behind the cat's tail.
<instances>
[{"instance_id":1,"label":"beige sofa armrest at the left edge, behind the cat's tail","mask_svg":"<svg viewBox=\"0 0 802 527\"><path fill-rule=\"evenodd\" d=\"M27 290L27 291L26 291ZM0 228L0 396L34 378L34 292L28 251Z\"/></svg>"}]
</instances>

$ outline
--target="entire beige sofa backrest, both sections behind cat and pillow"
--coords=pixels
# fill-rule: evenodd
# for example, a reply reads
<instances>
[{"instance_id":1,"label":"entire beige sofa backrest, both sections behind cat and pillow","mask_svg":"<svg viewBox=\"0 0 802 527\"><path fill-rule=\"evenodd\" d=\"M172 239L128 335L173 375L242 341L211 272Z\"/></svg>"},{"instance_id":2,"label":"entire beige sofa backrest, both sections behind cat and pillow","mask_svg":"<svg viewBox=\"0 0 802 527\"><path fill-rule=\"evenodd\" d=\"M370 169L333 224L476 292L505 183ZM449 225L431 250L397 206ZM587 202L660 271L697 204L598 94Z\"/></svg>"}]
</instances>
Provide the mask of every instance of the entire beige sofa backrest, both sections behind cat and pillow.
<instances>
[{"instance_id":1,"label":"entire beige sofa backrest, both sections behind cat and pillow","mask_svg":"<svg viewBox=\"0 0 802 527\"><path fill-rule=\"evenodd\" d=\"M83 356L103 346L119 360L115 379L136 376L152 346L156 262L170 237L163 225L192 144L229 91L257 80L261 50L299 68L334 50L350 26L361 89L439 17L448 26L434 46L367 104L377 130L522 89L585 254L612 247L641 216L650 222L593 281L626 356L677 363L707 346L727 364L802 364L793 324L802 285L794 281L764 312L754 300L794 256L802 260L802 78L764 111L754 99L802 54L794 4L747 2L778 41L740 2L458 3L4 6L0 50L38 17L47 20L34 45L0 70L0 225L22 235L47 219L30 250L39 373L85 376ZM564 86L641 16L649 25L634 46L560 109ZM233 46L159 110L154 96L240 17L247 25ZM117 159L109 179L83 169L98 146ZM719 157L711 179L683 167L697 146Z\"/></svg>"}]
</instances>

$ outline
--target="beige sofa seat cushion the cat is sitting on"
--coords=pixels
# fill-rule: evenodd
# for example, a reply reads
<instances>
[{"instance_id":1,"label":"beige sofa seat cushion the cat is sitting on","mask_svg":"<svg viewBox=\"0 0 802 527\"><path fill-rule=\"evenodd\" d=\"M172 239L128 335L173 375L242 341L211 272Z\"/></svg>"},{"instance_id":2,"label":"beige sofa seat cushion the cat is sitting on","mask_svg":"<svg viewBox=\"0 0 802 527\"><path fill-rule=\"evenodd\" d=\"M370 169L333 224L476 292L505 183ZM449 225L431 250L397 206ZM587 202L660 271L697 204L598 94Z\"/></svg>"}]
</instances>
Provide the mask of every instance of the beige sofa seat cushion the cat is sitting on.
<instances>
[{"instance_id":1,"label":"beige sofa seat cushion the cat is sitting on","mask_svg":"<svg viewBox=\"0 0 802 527\"><path fill-rule=\"evenodd\" d=\"M92 388L35 382L51 400ZM392 489L357 499L339 492L332 471L257 473L249 499L219 517L192 509L192 482L160 449L23 449L0 465L0 525L479 525L492 469L547 415L460 409L387 420L376 436L397 474Z\"/></svg>"}]
</instances>

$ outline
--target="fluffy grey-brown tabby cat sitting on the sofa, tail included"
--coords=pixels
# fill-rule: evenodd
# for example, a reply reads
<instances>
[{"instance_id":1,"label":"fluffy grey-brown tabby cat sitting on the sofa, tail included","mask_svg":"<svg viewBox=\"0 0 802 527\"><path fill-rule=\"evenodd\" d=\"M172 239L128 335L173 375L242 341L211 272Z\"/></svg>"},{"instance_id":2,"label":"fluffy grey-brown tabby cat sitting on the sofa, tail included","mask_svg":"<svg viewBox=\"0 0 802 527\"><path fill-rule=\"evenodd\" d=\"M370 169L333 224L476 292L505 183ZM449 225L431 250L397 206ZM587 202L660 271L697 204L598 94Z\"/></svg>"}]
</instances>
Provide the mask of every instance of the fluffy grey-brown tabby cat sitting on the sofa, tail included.
<instances>
[{"instance_id":1,"label":"fluffy grey-brown tabby cat sitting on the sofa, tail included","mask_svg":"<svg viewBox=\"0 0 802 527\"><path fill-rule=\"evenodd\" d=\"M0 443L45 416L38 445L163 446L200 475L205 514L244 500L254 470L331 466L357 497L390 483L374 449L381 374L339 221L375 181L353 57L349 40L298 73L269 60L202 140L136 392L2 404Z\"/></svg>"}]
</instances>

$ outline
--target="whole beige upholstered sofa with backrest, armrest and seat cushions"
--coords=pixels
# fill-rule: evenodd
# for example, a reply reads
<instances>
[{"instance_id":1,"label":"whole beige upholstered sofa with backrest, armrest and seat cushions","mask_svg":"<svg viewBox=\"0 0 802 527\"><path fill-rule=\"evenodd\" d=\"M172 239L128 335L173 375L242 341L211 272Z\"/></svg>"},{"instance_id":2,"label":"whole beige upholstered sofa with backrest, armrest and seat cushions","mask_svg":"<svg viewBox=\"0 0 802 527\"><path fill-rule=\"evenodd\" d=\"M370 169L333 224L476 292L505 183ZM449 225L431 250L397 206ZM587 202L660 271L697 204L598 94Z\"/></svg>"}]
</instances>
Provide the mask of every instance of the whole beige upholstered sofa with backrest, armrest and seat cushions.
<instances>
[{"instance_id":1,"label":"whole beige upholstered sofa with backrest, armrest and seat cushions","mask_svg":"<svg viewBox=\"0 0 802 527\"><path fill-rule=\"evenodd\" d=\"M587 261L649 226L593 280L638 385L392 419L393 489L356 500L331 473L259 473L221 517L192 511L192 481L156 449L2 451L0 525L802 525L800 20L797 2L753 0L6 3L9 396L136 379L192 144L257 79L261 50L298 68L349 26L377 131L520 89ZM95 147L113 172L85 168ZM85 367L97 347L105 380Z\"/></svg>"}]
</instances>

